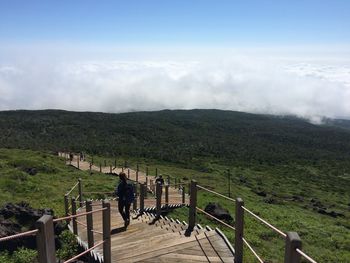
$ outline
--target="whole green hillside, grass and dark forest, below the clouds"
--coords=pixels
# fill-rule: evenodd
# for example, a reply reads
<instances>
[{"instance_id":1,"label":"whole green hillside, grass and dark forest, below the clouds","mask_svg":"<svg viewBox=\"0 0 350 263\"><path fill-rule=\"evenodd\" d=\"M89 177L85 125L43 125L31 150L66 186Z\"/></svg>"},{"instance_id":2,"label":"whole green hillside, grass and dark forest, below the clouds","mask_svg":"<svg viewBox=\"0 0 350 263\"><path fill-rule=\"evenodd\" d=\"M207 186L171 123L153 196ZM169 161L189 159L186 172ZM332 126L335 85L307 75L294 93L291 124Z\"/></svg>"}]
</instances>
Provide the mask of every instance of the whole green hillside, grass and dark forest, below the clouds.
<instances>
[{"instance_id":1,"label":"whole green hillside, grass and dark forest, below the clouds","mask_svg":"<svg viewBox=\"0 0 350 263\"><path fill-rule=\"evenodd\" d=\"M115 179L66 167L47 151L85 151L94 154L95 162L128 160L131 166L149 166L152 173L158 167L224 194L229 168L233 197L242 197L280 229L297 231L305 251L320 262L350 262L347 125L216 110L0 112L0 147L37 150L0 150L0 202L25 199L61 214L63 193L78 177L90 191L113 189ZM26 168L33 166L38 173L30 176ZM198 200L204 208L218 199L199 192ZM234 214L233 204L220 203ZM186 219L186 214L183 209L174 217ZM245 226L247 239L266 262L281 262L283 240L249 216ZM232 238L230 231L226 234Z\"/></svg>"}]
</instances>

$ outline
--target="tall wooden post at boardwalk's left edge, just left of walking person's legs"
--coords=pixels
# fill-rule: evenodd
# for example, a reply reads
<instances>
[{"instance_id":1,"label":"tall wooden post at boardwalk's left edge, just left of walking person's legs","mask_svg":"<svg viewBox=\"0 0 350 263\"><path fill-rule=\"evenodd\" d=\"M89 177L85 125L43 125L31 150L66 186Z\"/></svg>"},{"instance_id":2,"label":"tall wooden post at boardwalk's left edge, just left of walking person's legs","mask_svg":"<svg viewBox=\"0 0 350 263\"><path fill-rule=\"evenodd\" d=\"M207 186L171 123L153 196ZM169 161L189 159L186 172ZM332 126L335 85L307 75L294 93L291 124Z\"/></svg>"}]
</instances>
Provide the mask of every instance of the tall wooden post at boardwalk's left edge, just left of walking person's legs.
<instances>
[{"instance_id":1,"label":"tall wooden post at boardwalk's left edge, just left of walking person's legs","mask_svg":"<svg viewBox=\"0 0 350 263\"><path fill-rule=\"evenodd\" d=\"M111 204L108 201L103 201L102 207L106 208L102 212L103 221L103 262L112 262L111 252Z\"/></svg>"}]
</instances>

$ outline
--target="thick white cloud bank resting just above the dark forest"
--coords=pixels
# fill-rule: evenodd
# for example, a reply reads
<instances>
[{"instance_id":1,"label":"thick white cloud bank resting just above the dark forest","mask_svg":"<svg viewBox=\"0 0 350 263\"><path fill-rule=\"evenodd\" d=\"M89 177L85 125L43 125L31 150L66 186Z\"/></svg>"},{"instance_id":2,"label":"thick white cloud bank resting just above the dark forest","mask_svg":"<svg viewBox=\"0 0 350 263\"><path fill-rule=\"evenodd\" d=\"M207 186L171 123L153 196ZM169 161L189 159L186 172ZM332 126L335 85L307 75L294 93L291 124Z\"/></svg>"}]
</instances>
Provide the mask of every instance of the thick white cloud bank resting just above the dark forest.
<instances>
[{"instance_id":1,"label":"thick white cloud bank resting just above the dark forest","mask_svg":"<svg viewBox=\"0 0 350 263\"><path fill-rule=\"evenodd\" d=\"M235 58L2 63L0 110L225 109L350 118L350 64Z\"/></svg>"}]
</instances>

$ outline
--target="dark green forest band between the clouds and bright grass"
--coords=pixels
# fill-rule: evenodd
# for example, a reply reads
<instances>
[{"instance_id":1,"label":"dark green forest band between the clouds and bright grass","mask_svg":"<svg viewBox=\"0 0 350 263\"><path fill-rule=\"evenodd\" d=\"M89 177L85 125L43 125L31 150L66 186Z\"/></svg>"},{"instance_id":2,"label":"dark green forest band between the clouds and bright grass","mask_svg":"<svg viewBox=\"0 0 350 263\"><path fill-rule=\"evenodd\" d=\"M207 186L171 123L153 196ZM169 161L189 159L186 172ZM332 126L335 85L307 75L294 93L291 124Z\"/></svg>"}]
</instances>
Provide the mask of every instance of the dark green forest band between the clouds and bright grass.
<instances>
[{"instance_id":1,"label":"dark green forest band between the clouds and bright grass","mask_svg":"<svg viewBox=\"0 0 350 263\"><path fill-rule=\"evenodd\" d=\"M350 130L294 117L220 110L3 111L0 147L86 151L185 164L203 159L260 165L339 163L350 160Z\"/></svg>"}]
</instances>

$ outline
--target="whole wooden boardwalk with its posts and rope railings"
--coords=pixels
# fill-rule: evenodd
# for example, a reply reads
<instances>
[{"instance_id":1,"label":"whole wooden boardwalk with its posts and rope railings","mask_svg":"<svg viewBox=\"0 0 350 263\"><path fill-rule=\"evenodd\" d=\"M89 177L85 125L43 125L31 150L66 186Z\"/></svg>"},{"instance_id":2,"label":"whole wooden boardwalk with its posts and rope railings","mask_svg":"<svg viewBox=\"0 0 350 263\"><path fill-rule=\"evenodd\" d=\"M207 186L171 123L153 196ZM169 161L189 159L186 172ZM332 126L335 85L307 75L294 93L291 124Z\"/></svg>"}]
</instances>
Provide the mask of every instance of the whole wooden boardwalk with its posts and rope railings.
<instances>
[{"instance_id":1,"label":"whole wooden boardwalk with its posts and rope railings","mask_svg":"<svg viewBox=\"0 0 350 263\"><path fill-rule=\"evenodd\" d=\"M67 153L59 153L67 158ZM106 173L118 173L125 168L96 168L90 163L80 162L78 156L71 156L67 163L82 170L96 170ZM125 171L125 170L124 170ZM284 263L300 263L301 259L317 263L302 251L302 242L296 232L283 232L262 219L247 207L241 198L232 199L223 194L198 185L192 180L188 186L189 195L183 185L154 184L155 178L139 171L129 170L129 179L139 189L133 204L130 225L124 227L124 221L117 211L116 198L110 200L88 199L83 192L83 182L79 180L64 196L66 216L53 219L44 215L36 223L36 229L20 234L2 237L1 242L36 235L39 263L56 263L54 223L66 221L70 230L84 247L79 255L65 261L70 263L83 255L90 254L89 263L103 262L243 262L243 247L246 246L256 260L263 263L249 240L244 237L245 214L254 217L257 222L269 227L285 240ZM179 187L180 186L180 187ZM197 191L206 191L230 200L235 205L235 223L229 225L197 207ZM151 192L152 195L148 195ZM155 194L155 198L153 196ZM113 200L114 199L114 200ZM139 204L139 208L137 208ZM188 205L188 222L163 217L167 209ZM149 213L151 211L151 213ZM197 212L216 220L234 231L234 248L225 235L216 228L202 228L196 224ZM304 261L303 261L304 262Z\"/></svg>"}]
</instances>

